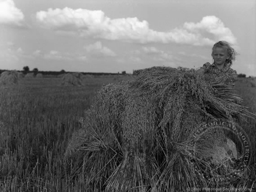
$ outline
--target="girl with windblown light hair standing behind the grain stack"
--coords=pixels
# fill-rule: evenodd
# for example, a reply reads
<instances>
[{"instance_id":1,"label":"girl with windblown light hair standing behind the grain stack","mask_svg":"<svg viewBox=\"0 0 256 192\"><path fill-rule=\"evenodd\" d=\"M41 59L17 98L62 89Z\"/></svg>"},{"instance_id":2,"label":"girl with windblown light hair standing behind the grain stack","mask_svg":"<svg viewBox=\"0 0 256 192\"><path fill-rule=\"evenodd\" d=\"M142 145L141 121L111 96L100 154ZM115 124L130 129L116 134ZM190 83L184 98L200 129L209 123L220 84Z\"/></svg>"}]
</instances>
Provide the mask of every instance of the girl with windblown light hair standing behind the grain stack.
<instances>
[{"instance_id":1,"label":"girl with windblown light hair standing behind the grain stack","mask_svg":"<svg viewBox=\"0 0 256 192\"><path fill-rule=\"evenodd\" d=\"M234 86L237 80L237 72L230 68L235 61L237 52L226 41L219 41L212 47L213 64L205 63L203 67L196 70L197 73L208 74L209 78L219 79L221 82Z\"/></svg>"}]
</instances>

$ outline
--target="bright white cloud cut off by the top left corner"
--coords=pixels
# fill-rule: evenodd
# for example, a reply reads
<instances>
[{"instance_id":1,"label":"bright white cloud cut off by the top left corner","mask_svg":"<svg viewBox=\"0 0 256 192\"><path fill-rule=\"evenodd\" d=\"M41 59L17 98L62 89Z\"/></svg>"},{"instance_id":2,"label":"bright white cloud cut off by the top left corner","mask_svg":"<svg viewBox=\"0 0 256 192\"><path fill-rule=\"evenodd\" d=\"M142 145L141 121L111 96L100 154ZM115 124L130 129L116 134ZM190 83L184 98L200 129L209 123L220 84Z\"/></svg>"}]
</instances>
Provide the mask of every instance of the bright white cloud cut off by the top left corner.
<instances>
[{"instance_id":1,"label":"bright white cloud cut off by the top left corner","mask_svg":"<svg viewBox=\"0 0 256 192\"><path fill-rule=\"evenodd\" d=\"M23 26L24 15L13 0L0 0L0 24Z\"/></svg>"}]
</instances>

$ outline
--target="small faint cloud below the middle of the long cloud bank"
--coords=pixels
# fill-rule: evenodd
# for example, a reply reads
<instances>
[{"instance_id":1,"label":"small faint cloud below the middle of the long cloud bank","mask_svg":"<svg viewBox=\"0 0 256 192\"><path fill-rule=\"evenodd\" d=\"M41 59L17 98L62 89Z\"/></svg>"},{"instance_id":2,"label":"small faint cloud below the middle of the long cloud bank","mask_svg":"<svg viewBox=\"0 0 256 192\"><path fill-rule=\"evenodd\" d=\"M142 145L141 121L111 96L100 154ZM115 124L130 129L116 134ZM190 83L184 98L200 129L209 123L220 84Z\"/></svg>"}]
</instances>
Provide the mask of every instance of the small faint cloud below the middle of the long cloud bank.
<instances>
[{"instance_id":1,"label":"small faint cloud below the middle of the long cloud bank","mask_svg":"<svg viewBox=\"0 0 256 192\"><path fill-rule=\"evenodd\" d=\"M107 47L103 47L100 41L84 47L87 52L95 57L115 57L116 54Z\"/></svg>"}]
</instances>

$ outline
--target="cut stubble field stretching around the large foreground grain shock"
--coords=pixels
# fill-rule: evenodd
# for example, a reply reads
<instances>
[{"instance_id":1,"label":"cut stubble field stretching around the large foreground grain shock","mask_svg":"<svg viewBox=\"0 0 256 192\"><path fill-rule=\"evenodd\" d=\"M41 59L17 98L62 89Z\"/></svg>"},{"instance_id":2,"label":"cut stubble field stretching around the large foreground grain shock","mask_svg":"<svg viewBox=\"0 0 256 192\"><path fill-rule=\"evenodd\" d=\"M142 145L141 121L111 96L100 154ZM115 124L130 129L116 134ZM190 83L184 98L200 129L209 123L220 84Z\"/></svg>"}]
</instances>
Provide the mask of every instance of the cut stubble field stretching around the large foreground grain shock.
<instances>
[{"instance_id":1,"label":"cut stubble field stretching around the large foreground grain shock","mask_svg":"<svg viewBox=\"0 0 256 192\"><path fill-rule=\"evenodd\" d=\"M61 86L60 78L28 78L1 86L0 191L83 189L83 178L72 177L72 165L63 158L68 140L97 90L127 79L132 77L93 77L83 79L83 86ZM256 113L255 80L238 79L235 89L243 105ZM256 120L248 118L241 127L251 140L255 169Z\"/></svg>"}]
</instances>

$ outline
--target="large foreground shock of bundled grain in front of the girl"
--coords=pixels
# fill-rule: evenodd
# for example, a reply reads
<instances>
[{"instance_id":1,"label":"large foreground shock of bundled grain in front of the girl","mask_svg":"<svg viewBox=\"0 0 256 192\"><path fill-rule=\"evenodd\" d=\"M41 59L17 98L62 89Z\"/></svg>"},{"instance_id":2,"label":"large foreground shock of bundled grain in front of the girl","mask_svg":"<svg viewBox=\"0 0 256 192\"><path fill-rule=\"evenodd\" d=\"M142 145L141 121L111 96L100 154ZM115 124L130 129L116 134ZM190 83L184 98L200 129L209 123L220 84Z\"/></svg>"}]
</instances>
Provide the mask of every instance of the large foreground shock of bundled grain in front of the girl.
<instances>
[{"instance_id":1,"label":"large foreground shock of bundled grain in front of the girl","mask_svg":"<svg viewBox=\"0 0 256 192\"><path fill-rule=\"evenodd\" d=\"M189 163L190 135L209 119L245 112L240 101L224 84L184 69L153 67L141 71L135 81L109 84L98 92L83 129L74 133L67 148L66 157L75 162L72 174L83 175L93 190L209 187L195 177L200 166ZM202 148L197 150L201 153Z\"/></svg>"}]
</instances>

